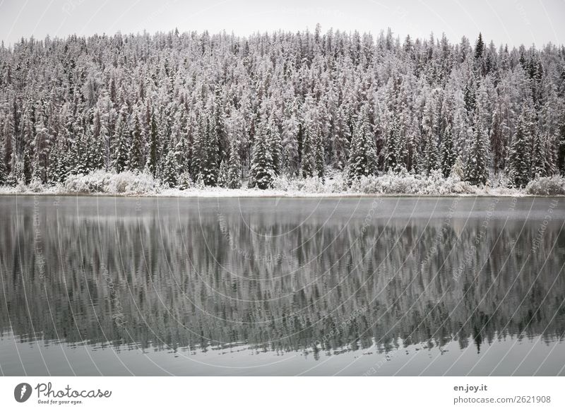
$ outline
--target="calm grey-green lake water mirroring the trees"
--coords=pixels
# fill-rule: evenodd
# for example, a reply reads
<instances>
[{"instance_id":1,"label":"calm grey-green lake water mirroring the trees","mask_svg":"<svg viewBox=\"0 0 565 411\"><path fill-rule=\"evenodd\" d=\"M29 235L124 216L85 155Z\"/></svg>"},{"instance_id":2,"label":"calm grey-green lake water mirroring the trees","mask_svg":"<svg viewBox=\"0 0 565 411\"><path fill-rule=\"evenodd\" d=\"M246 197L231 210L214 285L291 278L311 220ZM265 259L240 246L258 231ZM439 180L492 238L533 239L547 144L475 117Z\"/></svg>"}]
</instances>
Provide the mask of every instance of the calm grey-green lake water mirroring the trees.
<instances>
[{"instance_id":1,"label":"calm grey-green lake water mirroring the trees","mask_svg":"<svg viewBox=\"0 0 565 411\"><path fill-rule=\"evenodd\" d=\"M564 375L564 204L0 196L0 373Z\"/></svg>"}]
</instances>

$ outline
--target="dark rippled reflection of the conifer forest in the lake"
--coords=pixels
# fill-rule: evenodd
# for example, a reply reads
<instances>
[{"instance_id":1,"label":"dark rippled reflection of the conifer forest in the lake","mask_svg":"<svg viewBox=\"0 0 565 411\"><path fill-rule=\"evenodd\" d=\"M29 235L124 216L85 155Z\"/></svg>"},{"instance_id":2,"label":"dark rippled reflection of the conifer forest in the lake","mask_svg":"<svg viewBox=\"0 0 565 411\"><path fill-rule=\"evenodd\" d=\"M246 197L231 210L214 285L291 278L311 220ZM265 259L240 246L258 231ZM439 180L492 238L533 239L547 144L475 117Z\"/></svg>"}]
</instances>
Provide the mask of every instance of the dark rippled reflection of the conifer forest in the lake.
<instances>
[{"instance_id":1,"label":"dark rippled reflection of the conifer forest in the lake","mask_svg":"<svg viewBox=\"0 0 565 411\"><path fill-rule=\"evenodd\" d=\"M478 218L375 219L363 232L359 218L297 228L291 213L175 213L42 214L44 268L32 208L2 220L0 328L24 340L35 331L44 340L263 350L355 350L374 340L382 350L450 340L480 349L504 336L564 335L558 224L530 253L539 221L494 219L475 244Z\"/></svg>"}]
</instances>

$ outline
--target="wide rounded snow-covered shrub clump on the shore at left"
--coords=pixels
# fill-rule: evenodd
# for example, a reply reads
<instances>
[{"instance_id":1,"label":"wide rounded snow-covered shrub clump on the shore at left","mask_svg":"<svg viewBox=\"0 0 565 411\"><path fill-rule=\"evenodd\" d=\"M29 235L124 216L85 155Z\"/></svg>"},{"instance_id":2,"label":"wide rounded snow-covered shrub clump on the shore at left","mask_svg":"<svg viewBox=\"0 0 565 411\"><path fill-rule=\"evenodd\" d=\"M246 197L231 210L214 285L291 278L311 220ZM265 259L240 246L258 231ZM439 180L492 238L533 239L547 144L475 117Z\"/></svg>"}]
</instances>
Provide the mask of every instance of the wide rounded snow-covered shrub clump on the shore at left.
<instances>
[{"instance_id":1,"label":"wide rounded snow-covered shrub clump on the shore at left","mask_svg":"<svg viewBox=\"0 0 565 411\"><path fill-rule=\"evenodd\" d=\"M65 190L71 193L143 194L158 191L158 184L150 174L115 174L96 170L86 175L69 176L65 181Z\"/></svg>"}]
</instances>

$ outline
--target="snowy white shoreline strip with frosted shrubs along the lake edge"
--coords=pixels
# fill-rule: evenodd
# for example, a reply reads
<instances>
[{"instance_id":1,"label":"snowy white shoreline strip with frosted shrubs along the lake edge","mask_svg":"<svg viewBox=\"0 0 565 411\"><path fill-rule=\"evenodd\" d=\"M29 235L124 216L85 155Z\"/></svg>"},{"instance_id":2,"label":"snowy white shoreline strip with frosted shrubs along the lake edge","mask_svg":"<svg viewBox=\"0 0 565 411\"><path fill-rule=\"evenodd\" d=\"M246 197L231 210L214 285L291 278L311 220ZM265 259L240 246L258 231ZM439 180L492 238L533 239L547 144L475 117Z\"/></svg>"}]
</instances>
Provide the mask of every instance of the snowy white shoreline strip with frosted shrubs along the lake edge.
<instances>
[{"instance_id":1,"label":"snowy white shoreline strip with frosted shrubs along the lake edge","mask_svg":"<svg viewBox=\"0 0 565 411\"><path fill-rule=\"evenodd\" d=\"M458 177L444 178L438 171L428 177L408 172L388 172L380 176L360 177L348 186L343 173L319 177L275 177L272 189L225 189L193 184L188 189L166 188L150 174L142 172L112 173L95 171L78 174L65 184L42 186L0 186L0 194L171 196L171 197L340 197L340 196L561 196L565 195L565 178L540 177L525 189L508 187L508 179L499 176L493 186L473 186Z\"/></svg>"}]
</instances>

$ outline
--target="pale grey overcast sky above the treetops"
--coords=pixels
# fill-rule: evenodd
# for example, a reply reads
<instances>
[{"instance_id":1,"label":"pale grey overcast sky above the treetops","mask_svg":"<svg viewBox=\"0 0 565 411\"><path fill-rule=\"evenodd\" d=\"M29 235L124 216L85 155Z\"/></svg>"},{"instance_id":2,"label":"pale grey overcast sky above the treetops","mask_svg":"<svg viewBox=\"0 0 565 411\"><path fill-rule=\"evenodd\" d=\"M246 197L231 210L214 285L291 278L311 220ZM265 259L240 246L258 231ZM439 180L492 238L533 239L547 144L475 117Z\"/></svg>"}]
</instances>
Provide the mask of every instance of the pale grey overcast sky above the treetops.
<instances>
[{"instance_id":1,"label":"pale grey overcast sky above the treetops","mask_svg":"<svg viewBox=\"0 0 565 411\"><path fill-rule=\"evenodd\" d=\"M565 0L0 0L0 40L169 31L370 31L390 27L401 38L445 32L510 46L565 43Z\"/></svg>"}]
</instances>

